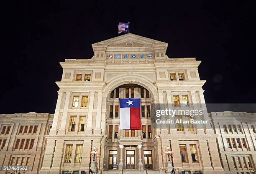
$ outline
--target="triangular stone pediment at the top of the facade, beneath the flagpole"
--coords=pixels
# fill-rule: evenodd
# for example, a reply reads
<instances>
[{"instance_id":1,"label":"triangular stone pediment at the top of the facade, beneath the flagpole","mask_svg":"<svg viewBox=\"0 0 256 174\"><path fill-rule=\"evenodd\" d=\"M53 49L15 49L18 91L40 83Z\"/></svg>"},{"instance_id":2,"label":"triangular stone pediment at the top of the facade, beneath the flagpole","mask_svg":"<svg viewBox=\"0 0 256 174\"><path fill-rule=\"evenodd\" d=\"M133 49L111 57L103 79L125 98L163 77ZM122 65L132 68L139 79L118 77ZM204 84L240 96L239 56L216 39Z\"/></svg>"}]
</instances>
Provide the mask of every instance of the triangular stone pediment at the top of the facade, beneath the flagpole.
<instances>
[{"instance_id":1,"label":"triangular stone pediment at the top of the facade, beneath the flagpole","mask_svg":"<svg viewBox=\"0 0 256 174\"><path fill-rule=\"evenodd\" d=\"M128 33L115 38L104 40L98 43L92 44L93 50L95 48L110 48L110 47L164 47L168 46L168 43L164 43L158 40L146 38L143 36Z\"/></svg>"}]
</instances>

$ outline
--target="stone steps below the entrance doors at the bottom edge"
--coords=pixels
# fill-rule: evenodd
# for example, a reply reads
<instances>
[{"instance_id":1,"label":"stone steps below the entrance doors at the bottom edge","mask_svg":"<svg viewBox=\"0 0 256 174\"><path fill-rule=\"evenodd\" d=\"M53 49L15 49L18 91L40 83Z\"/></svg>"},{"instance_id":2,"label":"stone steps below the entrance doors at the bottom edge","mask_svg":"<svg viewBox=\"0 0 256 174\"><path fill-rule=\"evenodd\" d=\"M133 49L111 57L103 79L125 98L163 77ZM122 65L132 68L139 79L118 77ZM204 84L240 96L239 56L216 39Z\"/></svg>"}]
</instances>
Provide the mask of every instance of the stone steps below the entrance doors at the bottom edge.
<instances>
[{"instance_id":1,"label":"stone steps below the entrance doors at the bottom edge","mask_svg":"<svg viewBox=\"0 0 256 174\"><path fill-rule=\"evenodd\" d=\"M147 170L148 174L165 174L159 170ZM122 174L122 170L105 170L102 174ZM123 174L146 174L146 170L138 169L124 169Z\"/></svg>"}]
</instances>

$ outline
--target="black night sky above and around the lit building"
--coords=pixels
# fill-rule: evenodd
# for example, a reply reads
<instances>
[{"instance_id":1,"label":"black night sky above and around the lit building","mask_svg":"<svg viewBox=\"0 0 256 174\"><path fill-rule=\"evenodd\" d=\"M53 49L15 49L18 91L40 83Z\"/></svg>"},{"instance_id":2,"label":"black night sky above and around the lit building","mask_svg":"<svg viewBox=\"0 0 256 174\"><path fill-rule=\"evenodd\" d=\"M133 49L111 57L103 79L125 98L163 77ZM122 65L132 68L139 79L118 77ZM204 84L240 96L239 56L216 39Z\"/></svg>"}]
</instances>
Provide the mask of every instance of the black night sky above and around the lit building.
<instances>
[{"instance_id":1,"label":"black night sky above and around the lit building","mask_svg":"<svg viewBox=\"0 0 256 174\"><path fill-rule=\"evenodd\" d=\"M54 113L59 62L91 58L91 44L128 21L131 33L169 43L170 58L202 61L207 103L255 103L255 3L82 2L1 4L0 113Z\"/></svg>"}]
</instances>

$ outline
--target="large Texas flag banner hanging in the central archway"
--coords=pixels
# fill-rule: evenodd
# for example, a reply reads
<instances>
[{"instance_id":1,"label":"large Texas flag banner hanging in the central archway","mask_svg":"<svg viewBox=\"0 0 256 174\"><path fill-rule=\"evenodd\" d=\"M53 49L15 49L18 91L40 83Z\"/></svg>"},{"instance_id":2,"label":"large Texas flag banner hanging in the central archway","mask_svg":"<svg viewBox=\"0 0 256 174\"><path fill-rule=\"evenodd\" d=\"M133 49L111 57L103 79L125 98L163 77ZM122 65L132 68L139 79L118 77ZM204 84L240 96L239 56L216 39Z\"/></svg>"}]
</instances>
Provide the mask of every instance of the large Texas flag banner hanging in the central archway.
<instances>
[{"instance_id":1,"label":"large Texas flag banner hanging in the central archway","mask_svg":"<svg viewBox=\"0 0 256 174\"><path fill-rule=\"evenodd\" d=\"M119 98L119 130L141 130L141 98Z\"/></svg>"}]
</instances>

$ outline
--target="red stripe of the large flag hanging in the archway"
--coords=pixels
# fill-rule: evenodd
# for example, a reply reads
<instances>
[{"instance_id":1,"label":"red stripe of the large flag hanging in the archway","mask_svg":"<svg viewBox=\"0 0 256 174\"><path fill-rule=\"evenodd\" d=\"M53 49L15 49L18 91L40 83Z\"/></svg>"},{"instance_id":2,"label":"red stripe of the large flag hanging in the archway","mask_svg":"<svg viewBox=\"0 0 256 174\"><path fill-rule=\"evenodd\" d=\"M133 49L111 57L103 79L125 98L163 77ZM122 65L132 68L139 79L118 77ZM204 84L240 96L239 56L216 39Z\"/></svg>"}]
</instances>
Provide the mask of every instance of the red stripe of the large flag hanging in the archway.
<instances>
[{"instance_id":1,"label":"red stripe of the large flag hanging in the archway","mask_svg":"<svg viewBox=\"0 0 256 174\"><path fill-rule=\"evenodd\" d=\"M141 108L130 108L130 129L141 130Z\"/></svg>"}]
</instances>

